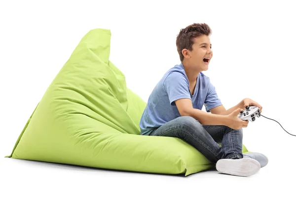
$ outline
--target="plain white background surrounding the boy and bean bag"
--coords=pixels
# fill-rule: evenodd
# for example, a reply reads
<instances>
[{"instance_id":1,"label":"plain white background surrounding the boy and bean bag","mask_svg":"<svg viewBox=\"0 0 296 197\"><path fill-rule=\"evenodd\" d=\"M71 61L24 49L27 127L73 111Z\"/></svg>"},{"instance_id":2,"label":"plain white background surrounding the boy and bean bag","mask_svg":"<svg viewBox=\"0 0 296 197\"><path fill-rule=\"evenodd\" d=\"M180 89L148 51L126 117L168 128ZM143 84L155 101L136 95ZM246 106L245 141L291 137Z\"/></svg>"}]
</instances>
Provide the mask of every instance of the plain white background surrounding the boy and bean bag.
<instances>
[{"instance_id":1,"label":"plain white background surrounding the boy and bean bag","mask_svg":"<svg viewBox=\"0 0 296 197\"><path fill-rule=\"evenodd\" d=\"M108 1L108 2L107 2ZM295 195L295 141L260 117L244 144L264 153L252 177L206 171L188 177L89 169L4 158L47 87L91 29L110 29L110 60L145 101L165 71L179 64L176 36L207 23L214 57L204 72L226 108L251 98L262 115L296 134L293 1L1 1L0 196Z\"/></svg>"}]
</instances>

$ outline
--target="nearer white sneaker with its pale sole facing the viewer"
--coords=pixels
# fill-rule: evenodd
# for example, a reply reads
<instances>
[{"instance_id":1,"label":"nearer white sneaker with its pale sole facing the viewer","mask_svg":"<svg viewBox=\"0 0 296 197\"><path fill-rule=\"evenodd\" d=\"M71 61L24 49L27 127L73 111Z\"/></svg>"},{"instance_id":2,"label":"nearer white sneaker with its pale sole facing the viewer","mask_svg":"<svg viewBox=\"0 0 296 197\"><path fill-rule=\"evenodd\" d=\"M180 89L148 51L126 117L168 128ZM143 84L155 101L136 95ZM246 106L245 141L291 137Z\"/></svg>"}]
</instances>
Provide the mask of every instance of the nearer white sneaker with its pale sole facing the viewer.
<instances>
[{"instance_id":1,"label":"nearer white sneaker with its pale sole facing the viewer","mask_svg":"<svg viewBox=\"0 0 296 197\"><path fill-rule=\"evenodd\" d=\"M224 174L236 176L252 176L259 172L260 164L251 158L221 159L216 164L216 169Z\"/></svg>"}]
</instances>

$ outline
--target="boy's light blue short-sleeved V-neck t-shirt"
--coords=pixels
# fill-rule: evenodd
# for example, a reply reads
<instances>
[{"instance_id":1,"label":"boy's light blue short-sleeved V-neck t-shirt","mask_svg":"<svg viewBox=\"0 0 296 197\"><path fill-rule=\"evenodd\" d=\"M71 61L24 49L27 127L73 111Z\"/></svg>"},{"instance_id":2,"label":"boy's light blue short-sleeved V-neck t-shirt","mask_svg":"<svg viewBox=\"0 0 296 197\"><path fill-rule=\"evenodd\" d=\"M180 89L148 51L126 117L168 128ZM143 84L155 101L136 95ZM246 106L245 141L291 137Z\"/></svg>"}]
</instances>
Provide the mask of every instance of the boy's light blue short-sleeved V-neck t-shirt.
<instances>
[{"instance_id":1,"label":"boy's light blue short-sleeved V-neck t-shirt","mask_svg":"<svg viewBox=\"0 0 296 197\"><path fill-rule=\"evenodd\" d=\"M201 110L205 105L207 112L222 105L210 78L202 72L196 79L193 95L190 93L189 81L181 63L169 69L150 94L140 120L141 135L149 135L154 128L180 117L175 100L184 98L191 99L193 108Z\"/></svg>"}]
</instances>

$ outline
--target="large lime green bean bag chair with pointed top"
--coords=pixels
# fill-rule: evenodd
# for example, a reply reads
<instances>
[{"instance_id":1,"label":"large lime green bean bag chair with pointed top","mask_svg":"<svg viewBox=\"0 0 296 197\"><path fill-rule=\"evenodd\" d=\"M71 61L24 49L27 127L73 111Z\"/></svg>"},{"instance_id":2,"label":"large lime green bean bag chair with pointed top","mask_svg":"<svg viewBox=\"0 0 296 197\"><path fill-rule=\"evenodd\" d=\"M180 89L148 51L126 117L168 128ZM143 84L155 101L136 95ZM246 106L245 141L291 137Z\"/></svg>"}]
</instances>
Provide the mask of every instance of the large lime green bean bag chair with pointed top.
<instances>
[{"instance_id":1,"label":"large lime green bean bag chair with pointed top","mask_svg":"<svg viewBox=\"0 0 296 197\"><path fill-rule=\"evenodd\" d=\"M214 168L179 138L140 135L147 103L109 61L110 43L106 29L81 39L6 157L185 176Z\"/></svg>"}]
</instances>

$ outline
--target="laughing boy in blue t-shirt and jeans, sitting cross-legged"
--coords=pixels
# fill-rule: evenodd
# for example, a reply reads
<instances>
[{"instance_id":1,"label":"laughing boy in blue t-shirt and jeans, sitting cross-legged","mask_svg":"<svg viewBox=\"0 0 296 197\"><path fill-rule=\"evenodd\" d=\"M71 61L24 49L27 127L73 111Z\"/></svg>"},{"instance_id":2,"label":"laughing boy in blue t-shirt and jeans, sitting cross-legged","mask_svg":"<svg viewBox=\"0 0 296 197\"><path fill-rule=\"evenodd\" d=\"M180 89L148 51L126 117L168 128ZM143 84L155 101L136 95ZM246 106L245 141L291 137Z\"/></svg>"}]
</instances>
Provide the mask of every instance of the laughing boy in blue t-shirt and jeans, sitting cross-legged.
<instances>
[{"instance_id":1,"label":"laughing boy in blue t-shirt and jeans, sitting cross-legged","mask_svg":"<svg viewBox=\"0 0 296 197\"><path fill-rule=\"evenodd\" d=\"M228 110L223 107L209 77L202 73L213 57L211 33L207 24L196 23L180 31L176 45L181 63L169 69L153 89L141 117L141 134L181 138L216 163L219 172L250 176L267 164L267 158L256 153L244 157L242 128L249 121L237 115L249 105L260 111L262 107L252 99ZM203 105L207 112L201 110Z\"/></svg>"}]
</instances>

